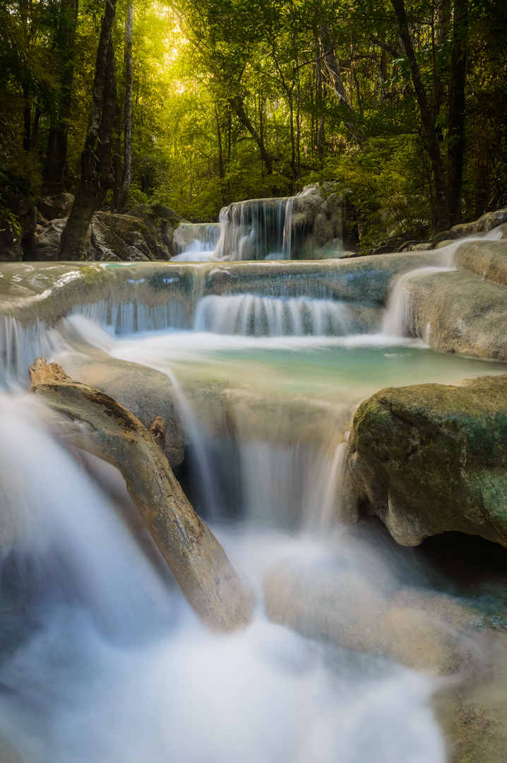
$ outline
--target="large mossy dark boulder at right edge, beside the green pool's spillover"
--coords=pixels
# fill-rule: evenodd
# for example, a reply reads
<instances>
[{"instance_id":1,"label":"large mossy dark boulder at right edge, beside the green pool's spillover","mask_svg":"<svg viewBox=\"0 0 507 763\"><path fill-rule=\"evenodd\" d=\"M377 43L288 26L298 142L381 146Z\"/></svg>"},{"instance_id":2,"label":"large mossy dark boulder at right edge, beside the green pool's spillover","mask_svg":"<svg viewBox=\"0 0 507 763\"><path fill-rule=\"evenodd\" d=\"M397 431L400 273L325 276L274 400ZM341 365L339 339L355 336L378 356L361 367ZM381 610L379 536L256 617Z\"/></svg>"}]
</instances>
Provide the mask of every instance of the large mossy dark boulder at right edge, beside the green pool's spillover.
<instances>
[{"instance_id":1,"label":"large mossy dark boulder at right edge, beside the green pool's spillover","mask_svg":"<svg viewBox=\"0 0 507 763\"><path fill-rule=\"evenodd\" d=\"M340 517L402 546L457 530L507 547L507 376L380 390L356 411Z\"/></svg>"}]
</instances>

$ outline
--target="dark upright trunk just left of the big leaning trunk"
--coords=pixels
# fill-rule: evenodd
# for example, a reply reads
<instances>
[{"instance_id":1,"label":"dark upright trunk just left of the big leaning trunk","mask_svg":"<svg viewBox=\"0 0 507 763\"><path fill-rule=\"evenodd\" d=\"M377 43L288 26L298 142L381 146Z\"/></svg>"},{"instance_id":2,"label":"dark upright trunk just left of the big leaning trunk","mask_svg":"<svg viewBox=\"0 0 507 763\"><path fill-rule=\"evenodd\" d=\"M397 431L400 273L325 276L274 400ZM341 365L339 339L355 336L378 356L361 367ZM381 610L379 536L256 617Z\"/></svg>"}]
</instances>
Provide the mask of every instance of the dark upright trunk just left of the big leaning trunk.
<instances>
[{"instance_id":1,"label":"dark upright trunk just left of the big leaning trunk","mask_svg":"<svg viewBox=\"0 0 507 763\"><path fill-rule=\"evenodd\" d=\"M78 22L78 0L62 0L56 50L60 69L60 98L50 120L47 138L47 156L44 167L44 185L50 194L63 190L63 170L67 156L67 136L72 107L74 82L75 30Z\"/></svg>"}]
</instances>

